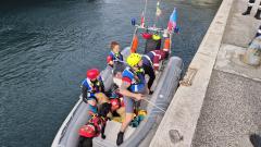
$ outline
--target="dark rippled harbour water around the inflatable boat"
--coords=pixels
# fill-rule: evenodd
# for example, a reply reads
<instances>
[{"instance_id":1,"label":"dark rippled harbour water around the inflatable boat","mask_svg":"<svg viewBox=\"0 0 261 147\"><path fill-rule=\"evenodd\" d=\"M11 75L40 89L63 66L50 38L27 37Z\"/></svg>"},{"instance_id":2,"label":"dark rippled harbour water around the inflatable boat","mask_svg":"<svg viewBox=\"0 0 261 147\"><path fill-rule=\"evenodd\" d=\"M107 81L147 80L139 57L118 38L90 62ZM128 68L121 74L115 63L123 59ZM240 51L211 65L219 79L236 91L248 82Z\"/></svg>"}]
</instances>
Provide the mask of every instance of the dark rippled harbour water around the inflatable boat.
<instances>
[{"instance_id":1,"label":"dark rippled harbour water around the inflatable boat","mask_svg":"<svg viewBox=\"0 0 261 147\"><path fill-rule=\"evenodd\" d=\"M207 1L207 2L206 2ZM149 0L149 24L156 0ZM191 61L220 0L165 0L159 26L178 9L173 53ZM78 100L86 70L103 69L111 40L132 39L144 0L0 3L0 147L47 147ZM147 19L148 19L147 17ZM147 20L148 21L148 20Z\"/></svg>"}]
</instances>

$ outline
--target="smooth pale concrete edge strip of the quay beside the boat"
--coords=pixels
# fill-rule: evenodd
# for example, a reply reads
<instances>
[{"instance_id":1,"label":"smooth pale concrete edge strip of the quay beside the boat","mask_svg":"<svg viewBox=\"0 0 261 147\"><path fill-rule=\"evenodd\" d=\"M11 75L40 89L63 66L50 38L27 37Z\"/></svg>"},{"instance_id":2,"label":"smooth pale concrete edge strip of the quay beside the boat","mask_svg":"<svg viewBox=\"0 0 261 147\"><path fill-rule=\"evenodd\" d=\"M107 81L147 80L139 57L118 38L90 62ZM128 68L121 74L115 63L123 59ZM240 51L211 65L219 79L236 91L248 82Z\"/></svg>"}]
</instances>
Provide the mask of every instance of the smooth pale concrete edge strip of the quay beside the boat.
<instances>
[{"instance_id":1,"label":"smooth pale concrete edge strip of the quay beside the boat","mask_svg":"<svg viewBox=\"0 0 261 147\"><path fill-rule=\"evenodd\" d=\"M232 4L233 0L223 0L188 68L196 71L192 85L178 87L150 147L191 146Z\"/></svg>"}]
</instances>

